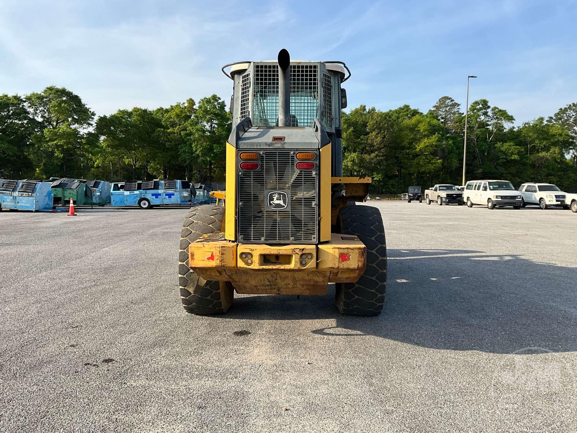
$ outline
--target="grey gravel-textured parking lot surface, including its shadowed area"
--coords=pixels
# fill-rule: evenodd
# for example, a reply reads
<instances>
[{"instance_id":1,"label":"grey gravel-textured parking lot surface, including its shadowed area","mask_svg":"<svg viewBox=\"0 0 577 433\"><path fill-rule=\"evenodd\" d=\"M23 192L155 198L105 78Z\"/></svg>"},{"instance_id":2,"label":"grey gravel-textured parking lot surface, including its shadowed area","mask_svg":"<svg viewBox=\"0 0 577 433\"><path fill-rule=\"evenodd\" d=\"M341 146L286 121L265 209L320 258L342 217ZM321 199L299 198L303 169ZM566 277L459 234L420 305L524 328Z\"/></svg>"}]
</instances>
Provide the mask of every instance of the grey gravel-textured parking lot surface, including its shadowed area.
<instances>
[{"instance_id":1,"label":"grey gravel-textured parking lot surface, including its shadowed area","mask_svg":"<svg viewBox=\"0 0 577 433\"><path fill-rule=\"evenodd\" d=\"M575 431L577 215L373 206L376 318L332 287L186 314L185 209L0 212L0 431Z\"/></svg>"}]
</instances>

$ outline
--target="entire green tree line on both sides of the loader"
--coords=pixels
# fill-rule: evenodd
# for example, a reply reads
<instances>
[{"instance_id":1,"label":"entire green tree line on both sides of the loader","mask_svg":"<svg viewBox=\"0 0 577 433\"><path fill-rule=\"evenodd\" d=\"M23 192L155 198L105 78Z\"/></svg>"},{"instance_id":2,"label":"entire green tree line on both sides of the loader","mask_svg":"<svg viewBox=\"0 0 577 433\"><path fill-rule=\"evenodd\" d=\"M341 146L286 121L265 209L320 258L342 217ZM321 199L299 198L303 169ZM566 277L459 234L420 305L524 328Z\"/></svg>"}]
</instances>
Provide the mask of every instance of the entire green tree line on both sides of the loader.
<instances>
[{"instance_id":1,"label":"entire green tree line on both sides of the loader","mask_svg":"<svg viewBox=\"0 0 577 433\"><path fill-rule=\"evenodd\" d=\"M426 113L404 105L343 112L343 172L373 177L373 192L409 185L460 185L465 116L449 96ZM577 103L521 126L505 109L475 100L467 116L467 180L499 178L514 185L551 182L577 188ZM0 96L0 169L14 178L110 181L182 178L224 180L231 130L216 95L155 110L134 107L95 117L80 96L50 86Z\"/></svg>"}]
</instances>

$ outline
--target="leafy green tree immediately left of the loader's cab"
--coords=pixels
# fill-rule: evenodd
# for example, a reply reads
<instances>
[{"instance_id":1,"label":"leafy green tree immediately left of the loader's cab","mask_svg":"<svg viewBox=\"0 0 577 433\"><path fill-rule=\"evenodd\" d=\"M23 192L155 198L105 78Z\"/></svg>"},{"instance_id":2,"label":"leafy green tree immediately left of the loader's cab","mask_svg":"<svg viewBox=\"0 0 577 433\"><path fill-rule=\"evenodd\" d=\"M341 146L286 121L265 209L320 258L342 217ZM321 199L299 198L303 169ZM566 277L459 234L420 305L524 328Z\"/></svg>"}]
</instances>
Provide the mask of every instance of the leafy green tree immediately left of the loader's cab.
<instances>
[{"instance_id":1,"label":"leafy green tree immediately left of the loader's cab","mask_svg":"<svg viewBox=\"0 0 577 433\"><path fill-rule=\"evenodd\" d=\"M231 116L226 110L226 103L216 95L202 98L188 133L198 161L208 166L208 182L214 180L213 171L216 171L219 180L224 178L226 140L230 130Z\"/></svg>"}]
</instances>

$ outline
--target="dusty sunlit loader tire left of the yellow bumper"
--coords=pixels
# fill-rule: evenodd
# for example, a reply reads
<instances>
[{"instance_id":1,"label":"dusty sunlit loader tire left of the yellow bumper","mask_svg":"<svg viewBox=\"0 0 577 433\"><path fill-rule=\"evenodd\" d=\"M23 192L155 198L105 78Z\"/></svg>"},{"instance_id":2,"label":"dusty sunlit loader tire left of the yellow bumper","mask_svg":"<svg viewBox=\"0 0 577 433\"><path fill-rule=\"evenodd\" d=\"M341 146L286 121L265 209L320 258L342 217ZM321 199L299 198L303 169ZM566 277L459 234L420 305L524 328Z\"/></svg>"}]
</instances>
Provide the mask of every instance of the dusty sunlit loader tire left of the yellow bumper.
<instances>
[{"instance_id":1,"label":"dusty sunlit loader tire left of the yellow bumper","mask_svg":"<svg viewBox=\"0 0 577 433\"><path fill-rule=\"evenodd\" d=\"M203 234L220 232L224 207L205 204L191 208L182 223L178 252L178 284L186 312L207 315L226 313L234 289L228 281L206 281L188 266L188 246Z\"/></svg>"}]
</instances>

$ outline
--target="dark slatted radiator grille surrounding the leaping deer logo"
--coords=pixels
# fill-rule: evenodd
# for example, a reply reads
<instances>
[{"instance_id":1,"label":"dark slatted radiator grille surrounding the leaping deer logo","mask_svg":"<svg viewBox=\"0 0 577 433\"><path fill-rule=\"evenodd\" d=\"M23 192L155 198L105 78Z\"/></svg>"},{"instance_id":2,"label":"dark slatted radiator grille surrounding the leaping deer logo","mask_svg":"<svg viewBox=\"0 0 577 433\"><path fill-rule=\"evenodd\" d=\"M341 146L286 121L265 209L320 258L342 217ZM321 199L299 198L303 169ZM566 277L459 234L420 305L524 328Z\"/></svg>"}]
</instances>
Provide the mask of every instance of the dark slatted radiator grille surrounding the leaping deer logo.
<instances>
[{"instance_id":1,"label":"dark slatted radiator grille surrounding the leaping deer logo","mask_svg":"<svg viewBox=\"0 0 577 433\"><path fill-rule=\"evenodd\" d=\"M258 162L258 170L239 170L239 242L316 243L318 170L297 170L291 151L260 152ZM276 190L287 191L290 203L283 210L267 210L265 200Z\"/></svg>"}]
</instances>

